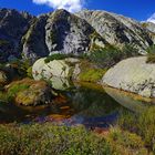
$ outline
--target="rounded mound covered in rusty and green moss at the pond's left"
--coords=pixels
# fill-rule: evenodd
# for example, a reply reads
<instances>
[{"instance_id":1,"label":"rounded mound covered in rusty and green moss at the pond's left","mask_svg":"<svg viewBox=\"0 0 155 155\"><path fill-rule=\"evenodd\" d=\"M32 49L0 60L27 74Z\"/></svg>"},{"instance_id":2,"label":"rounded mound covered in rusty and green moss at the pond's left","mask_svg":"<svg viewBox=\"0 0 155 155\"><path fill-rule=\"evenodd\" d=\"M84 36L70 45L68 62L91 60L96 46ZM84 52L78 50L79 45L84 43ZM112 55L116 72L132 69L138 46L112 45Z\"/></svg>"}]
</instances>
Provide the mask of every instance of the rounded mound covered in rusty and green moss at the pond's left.
<instances>
[{"instance_id":1,"label":"rounded mound covered in rusty and green moss at the pond's left","mask_svg":"<svg viewBox=\"0 0 155 155\"><path fill-rule=\"evenodd\" d=\"M16 104L24 106L44 105L51 103L54 94L44 81L23 79L6 86L8 95L14 99Z\"/></svg>"}]
</instances>

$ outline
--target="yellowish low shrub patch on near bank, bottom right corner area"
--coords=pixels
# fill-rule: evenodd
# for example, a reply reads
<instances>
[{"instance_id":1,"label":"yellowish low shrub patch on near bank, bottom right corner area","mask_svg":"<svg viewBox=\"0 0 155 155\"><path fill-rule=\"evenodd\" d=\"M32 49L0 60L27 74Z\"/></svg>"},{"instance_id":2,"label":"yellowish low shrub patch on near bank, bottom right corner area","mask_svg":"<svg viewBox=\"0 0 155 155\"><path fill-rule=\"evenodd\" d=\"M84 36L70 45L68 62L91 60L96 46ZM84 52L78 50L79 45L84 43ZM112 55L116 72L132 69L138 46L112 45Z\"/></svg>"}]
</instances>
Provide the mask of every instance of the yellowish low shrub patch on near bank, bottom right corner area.
<instances>
[{"instance_id":1,"label":"yellowish low shrub patch on near bank, bottom right corner area","mask_svg":"<svg viewBox=\"0 0 155 155\"><path fill-rule=\"evenodd\" d=\"M132 151L134 155L146 155L147 149L144 146L144 142L141 136L124 132L118 127L111 127L106 140L113 146L113 148L121 154L131 154Z\"/></svg>"}]
</instances>

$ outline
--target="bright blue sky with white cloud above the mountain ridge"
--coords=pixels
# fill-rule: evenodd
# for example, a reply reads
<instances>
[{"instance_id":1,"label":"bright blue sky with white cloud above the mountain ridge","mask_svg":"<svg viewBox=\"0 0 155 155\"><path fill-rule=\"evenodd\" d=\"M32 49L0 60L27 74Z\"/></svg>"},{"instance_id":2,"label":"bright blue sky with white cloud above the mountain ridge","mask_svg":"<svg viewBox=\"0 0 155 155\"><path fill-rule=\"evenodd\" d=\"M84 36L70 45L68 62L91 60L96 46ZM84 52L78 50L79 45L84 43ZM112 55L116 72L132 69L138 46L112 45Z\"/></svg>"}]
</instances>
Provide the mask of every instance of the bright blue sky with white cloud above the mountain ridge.
<instances>
[{"instance_id":1,"label":"bright blue sky with white cloud above the mountain ridge","mask_svg":"<svg viewBox=\"0 0 155 155\"><path fill-rule=\"evenodd\" d=\"M63 1L63 4L61 3ZM69 3L68 3L69 1ZM144 21L155 12L155 0L0 0L0 8L11 8L40 14L56 8L76 11L83 8L107 10ZM61 4L60 4L60 3ZM69 9L70 6L70 9Z\"/></svg>"}]
</instances>

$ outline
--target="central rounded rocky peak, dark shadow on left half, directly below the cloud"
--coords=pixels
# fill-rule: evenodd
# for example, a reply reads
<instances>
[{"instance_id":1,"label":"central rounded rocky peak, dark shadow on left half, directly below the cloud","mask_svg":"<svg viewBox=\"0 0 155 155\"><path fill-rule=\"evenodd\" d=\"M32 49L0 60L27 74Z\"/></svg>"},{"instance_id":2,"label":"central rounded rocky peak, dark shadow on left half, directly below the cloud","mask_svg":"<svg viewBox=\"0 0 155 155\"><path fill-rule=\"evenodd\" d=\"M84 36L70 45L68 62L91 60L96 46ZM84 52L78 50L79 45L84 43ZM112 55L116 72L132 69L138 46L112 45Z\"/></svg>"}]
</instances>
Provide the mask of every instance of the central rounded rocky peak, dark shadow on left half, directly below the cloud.
<instances>
[{"instance_id":1,"label":"central rounded rocky peak, dark shadow on left half, directly below the cloud","mask_svg":"<svg viewBox=\"0 0 155 155\"><path fill-rule=\"evenodd\" d=\"M81 54L89 52L95 30L84 20L65 10L50 14L45 42L50 52Z\"/></svg>"}]
</instances>

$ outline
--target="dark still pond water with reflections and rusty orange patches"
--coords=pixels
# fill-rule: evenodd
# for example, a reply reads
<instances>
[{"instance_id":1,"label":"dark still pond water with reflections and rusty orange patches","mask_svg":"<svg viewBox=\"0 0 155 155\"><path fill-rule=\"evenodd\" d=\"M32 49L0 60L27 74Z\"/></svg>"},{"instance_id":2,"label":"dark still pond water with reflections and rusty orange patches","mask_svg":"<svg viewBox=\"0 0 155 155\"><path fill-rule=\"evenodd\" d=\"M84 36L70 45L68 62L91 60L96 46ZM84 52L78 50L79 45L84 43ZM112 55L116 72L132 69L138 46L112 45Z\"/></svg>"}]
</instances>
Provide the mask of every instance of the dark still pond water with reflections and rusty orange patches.
<instances>
[{"instance_id":1,"label":"dark still pond water with reflections and rusty orange patches","mask_svg":"<svg viewBox=\"0 0 155 155\"><path fill-rule=\"evenodd\" d=\"M103 90L96 85L69 86L69 83L63 83L61 86L56 89L61 90L65 97L48 106L23 107L1 102L0 123L58 122L106 127L116 121L121 111L138 113L148 106L111 89Z\"/></svg>"}]
</instances>

